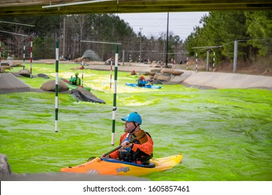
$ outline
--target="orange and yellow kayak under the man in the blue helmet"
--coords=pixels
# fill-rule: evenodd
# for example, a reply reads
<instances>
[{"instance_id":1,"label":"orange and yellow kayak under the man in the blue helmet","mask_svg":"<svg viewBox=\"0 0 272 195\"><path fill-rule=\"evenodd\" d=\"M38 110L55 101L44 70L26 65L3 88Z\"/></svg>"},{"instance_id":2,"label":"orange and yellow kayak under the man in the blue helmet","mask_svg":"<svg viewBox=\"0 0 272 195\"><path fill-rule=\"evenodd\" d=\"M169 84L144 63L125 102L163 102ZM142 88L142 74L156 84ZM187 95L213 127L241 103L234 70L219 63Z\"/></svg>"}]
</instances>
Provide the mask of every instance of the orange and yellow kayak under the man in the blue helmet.
<instances>
[{"instance_id":1,"label":"orange and yellow kayak under the man in the blue helmet","mask_svg":"<svg viewBox=\"0 0 272 195\"><path fill-rule=\"evenodd\" d=\"M151 159L150 164L147 165L96 157L84 164L62 168L61 172L112 176L144 176L156 171L171 169L181 162L182 157L183 155L180 154Z\"/></svg>"}]
</instances>

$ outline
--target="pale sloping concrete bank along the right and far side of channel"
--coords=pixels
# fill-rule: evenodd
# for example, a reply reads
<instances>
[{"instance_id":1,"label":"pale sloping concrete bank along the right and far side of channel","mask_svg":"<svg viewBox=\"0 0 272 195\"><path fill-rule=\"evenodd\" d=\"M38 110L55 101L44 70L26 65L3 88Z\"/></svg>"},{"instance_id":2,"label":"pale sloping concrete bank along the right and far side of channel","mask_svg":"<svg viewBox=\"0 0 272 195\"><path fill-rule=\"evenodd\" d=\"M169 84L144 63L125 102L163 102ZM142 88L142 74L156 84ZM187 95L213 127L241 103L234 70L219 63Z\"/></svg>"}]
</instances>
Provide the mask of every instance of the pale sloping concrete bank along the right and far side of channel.
<instances>
[{"instance_id":1,"label":"pale sloping concrete bank along the right and far side of channel","mask_svg":"<svg viewBox=\"0 0 272 195\"><path fill-rule=\"evenodd\" d=\"M109 65L89 65L88 69L109 70ZM119 65L119 71L137 73L150 72L152 69L160 69L140 64L133 66ZM171 83L184 84L197 88L264 88L272 90L272 77L259 75L241 75L238 73L224 72L195 72L183 70L180 76L172 77Z\"/></svg>"}]
</instances>

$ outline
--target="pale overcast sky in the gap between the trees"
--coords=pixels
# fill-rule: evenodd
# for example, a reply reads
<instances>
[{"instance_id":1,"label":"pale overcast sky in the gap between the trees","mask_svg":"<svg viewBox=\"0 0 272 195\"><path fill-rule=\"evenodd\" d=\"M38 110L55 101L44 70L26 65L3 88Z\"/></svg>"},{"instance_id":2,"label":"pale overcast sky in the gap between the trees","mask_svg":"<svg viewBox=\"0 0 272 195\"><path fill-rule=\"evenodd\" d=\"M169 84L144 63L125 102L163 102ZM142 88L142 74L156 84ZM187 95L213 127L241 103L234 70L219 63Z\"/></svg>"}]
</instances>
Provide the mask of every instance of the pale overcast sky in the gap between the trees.
<instances>
[{"instance_id":1,"label":"pale overcast sky in the gap between the trees","mask_svg":"<svg viewBox=\"0 0 272 195\"><path fill-rule=\"evenodd\" d=\"M169 13L169 33L185 40L195 26L202 26L199 20L208 12ZM128 22L135 33L142 28L142 35L150 38L159 37L160 33L167 31L167 13L121 13L119 17Z\"/></svg>"}]
</instances>

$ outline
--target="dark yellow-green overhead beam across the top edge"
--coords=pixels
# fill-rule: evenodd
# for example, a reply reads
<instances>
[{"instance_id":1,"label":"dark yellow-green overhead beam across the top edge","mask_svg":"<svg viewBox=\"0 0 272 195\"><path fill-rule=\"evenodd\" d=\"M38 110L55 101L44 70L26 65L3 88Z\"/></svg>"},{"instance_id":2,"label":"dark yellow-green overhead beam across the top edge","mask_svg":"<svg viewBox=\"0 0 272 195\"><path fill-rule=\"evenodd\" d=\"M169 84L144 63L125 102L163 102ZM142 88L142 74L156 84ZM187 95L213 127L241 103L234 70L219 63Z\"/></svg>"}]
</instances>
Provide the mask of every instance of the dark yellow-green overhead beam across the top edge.
<instances>
[{"instance_id":1,"label":"dark yellow-green overhead beam across the top edge","mask_svg":"<svg viewBox=\"0 0 272 195\"><path fill-rule=\"evenodd\" d=\"M80 2L88 2L79 4ZM73 5L62 6L63 3ZM55 6L42 8L43 6ZM0 0L0 17L96 13L272 10L271 0Z\"/></svg>"}]
</instances>

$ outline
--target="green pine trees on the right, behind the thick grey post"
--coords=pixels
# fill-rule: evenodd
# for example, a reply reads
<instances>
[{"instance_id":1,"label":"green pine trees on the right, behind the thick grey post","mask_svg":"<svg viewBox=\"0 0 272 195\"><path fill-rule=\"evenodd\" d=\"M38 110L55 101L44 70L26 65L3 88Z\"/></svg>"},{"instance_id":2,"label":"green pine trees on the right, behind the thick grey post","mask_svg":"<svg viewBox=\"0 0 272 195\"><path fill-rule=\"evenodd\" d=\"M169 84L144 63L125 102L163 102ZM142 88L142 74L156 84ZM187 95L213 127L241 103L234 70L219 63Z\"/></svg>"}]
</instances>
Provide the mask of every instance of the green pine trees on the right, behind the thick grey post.
<instances>
[{"instance_id":1,"label":"green pine trees on the right, behind the thick grey post","mask_svg":"<svg viewBox=\"0 0 272 195\"><path fill-rule=\"evenodd\" d=\"M186 39L190 56L197 52L206 59L207 51L211 50L216 53L217 63L232 61L237 40L240 61L252 63L264 57L271 61L271 11L213 11L204 15L200 23L203 27L196 27Z\"/></svg>"}]
</instances>

